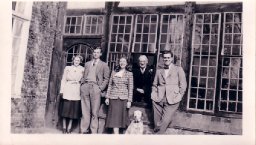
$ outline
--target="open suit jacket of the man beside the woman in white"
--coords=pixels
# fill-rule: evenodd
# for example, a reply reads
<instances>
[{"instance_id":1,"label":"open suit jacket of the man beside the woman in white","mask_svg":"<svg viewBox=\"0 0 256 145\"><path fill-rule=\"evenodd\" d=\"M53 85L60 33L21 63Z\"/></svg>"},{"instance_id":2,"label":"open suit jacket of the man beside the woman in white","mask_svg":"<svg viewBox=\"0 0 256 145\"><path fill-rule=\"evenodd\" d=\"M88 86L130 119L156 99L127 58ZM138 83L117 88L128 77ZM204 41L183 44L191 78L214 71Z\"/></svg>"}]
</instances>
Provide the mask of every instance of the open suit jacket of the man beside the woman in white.
<instances>
[{"instance_id":1,"label":"open suit jacket of the man beside the woman in white","mask_svg":"<svg viewBox=\"0 0 256 145\"><path fill-rule=\"evenodd\" d=\"M92 63L93 63L92 60L85 63L84 76L81 79L81 83L85 83ZM104 91L108 85L109 74L110 74L110 72L109 72L109 67L108 67L107 63L99 60L97 66L96 66L96 81L97 81L97 85L99 86L99 89L101 91Z\"/></svg>"}]
</instances>

